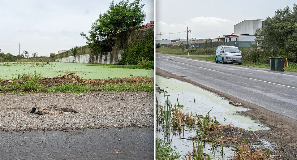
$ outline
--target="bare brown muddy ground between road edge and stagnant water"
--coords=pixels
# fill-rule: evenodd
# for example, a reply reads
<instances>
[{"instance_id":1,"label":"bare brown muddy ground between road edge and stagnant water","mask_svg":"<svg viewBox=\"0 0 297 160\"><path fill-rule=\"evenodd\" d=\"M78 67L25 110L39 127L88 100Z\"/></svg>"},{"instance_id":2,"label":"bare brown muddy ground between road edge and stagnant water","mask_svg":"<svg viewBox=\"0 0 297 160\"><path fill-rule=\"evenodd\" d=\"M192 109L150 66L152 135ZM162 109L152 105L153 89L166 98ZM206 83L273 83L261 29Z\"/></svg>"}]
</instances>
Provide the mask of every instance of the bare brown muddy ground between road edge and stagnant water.
<instances>
[{"instance_id":1,"label":"bare brown muddy ground between road edge and stagnant water","mask_svg":"<svg viewBox=\"0 0 297 160\"><path fill-rule=\"evenodd\" d=\"M297 121L288 117L279 115L277 113L266 110L260 106L256 106L252 103L243 101L239 98L230 96L228 94L219 92L215 89L211 89L199 83L187 80L184 77L176 76L156 68L156 75L170 77L178 80L182 80L187 83L194 84L211 92L217 93L220 96L226 97L230 101L242 103L243 107L249 108L249 111L240 112L241 115L252 117L261 123L272 128L271 130L249 132L243 129L226 129L226 136L233 136L239 139L245 137L246 141L253 145L261 145L260 138L264 138L275 145L275 150L270 150L272 155L277 155L277 159L297 160ZM255 95L256 96L256 95ZM229 133L228 133L229 132ZM231 144L229 144L231 145ZM263 146L262 146L263 147ZM260 148L262 148L260 146ZM265 148L265 147L263 147Z\"/></svg>"}]
</instances>

